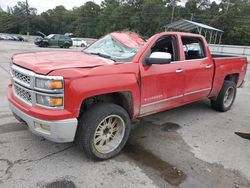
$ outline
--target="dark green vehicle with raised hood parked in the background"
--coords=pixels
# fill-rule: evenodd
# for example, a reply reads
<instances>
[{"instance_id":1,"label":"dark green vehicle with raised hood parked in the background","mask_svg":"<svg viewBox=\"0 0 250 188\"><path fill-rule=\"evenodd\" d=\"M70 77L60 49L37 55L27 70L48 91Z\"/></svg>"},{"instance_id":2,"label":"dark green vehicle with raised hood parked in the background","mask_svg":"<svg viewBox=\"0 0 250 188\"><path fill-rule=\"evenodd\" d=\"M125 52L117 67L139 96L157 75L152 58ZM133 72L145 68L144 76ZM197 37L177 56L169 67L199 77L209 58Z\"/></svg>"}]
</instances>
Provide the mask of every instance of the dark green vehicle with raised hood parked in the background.
<instances>
[{"instance_id":1,"label":"dark green vehicle with raised hood parked in the background","mask_svg":"<svg viewBox=\"0 0 250 188\"><path fill-rule=\"evenodd\" d=\"M72 46L72 40L69 36L60 34L45 34L38 32L41 37L35 39L34 43L39 47L58 46L60 48L69 48Z\"/></svg>"}]
</instances>

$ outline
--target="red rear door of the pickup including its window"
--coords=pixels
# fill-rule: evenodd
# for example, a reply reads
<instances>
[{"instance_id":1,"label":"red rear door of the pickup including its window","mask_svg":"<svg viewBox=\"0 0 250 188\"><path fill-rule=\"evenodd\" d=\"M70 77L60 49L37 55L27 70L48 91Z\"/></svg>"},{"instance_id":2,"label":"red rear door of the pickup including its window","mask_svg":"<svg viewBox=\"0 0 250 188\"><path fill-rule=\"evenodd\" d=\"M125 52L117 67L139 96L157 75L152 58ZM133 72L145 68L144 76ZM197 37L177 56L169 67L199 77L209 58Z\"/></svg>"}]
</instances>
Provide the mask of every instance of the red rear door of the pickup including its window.
<instances>
[{"instance_id":1,"label":"red rear door of the pickup including its window","mask_svg":"<svg viewBox=\"0 0 250 188\"><path fill-rule=\"evenodd\" d=\"M212 88L214 67L202 38L182 36L185 53L185 89L183 102L207 97Z\"/></svg>"}]
</instances>

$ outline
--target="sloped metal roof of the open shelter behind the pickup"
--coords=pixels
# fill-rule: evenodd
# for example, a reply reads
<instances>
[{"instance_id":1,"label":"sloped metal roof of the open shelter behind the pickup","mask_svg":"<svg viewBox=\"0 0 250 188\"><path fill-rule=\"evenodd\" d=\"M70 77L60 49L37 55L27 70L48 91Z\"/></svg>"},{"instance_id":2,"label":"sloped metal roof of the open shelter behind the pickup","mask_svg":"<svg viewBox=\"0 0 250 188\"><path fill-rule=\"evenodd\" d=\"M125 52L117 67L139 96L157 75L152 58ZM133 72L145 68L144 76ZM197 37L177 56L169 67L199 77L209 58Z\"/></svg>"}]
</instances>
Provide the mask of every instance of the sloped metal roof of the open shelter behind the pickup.
<instances>
[{"instance_id":1,"label":"sloped metal roof of the open shelter behind the pickup","mask_svg":"<svg viewBox=\"0 0 250 188\"><path fill-rule=\"evenodd\" d=\"M217 31L217 32L223 32L220 29L202 24L202 23L198 23L198 22L194 22L194 21L190 21L190 20L185 20L185 19L181 19L178 20L176 22L170 23L165 25L165 30L175 30L175 31L185 31L185 32L191 32L197 29L207 29L207 30L211 30L211 31Z\"/></svg>"}]
</instances>

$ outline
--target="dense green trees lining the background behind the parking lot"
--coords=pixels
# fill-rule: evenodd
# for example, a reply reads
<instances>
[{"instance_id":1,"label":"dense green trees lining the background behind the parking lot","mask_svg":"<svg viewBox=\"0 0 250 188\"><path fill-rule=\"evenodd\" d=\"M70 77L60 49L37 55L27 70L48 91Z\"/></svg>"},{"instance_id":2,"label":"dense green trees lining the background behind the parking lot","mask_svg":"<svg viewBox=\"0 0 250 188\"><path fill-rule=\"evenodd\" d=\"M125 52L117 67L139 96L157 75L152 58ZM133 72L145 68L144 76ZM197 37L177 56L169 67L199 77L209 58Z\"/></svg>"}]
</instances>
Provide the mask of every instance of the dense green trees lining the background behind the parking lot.
<instances>
[{"instance_id":1,"label":"dense green trees lining the background behind the parking lot","mask_svg":"<svg viewBox=\"0 0 250 188\"><path fill-rule=\"evenodd\" d=\"M250 0L103 0L86 2L73 10L57 6L41 14L25 2L7 11L0 8L0 32L35 34L74 33L97 38L112 31L135 31L144 37L164 30L181 18L217 27L224 31L223 43L250 45Z\"/></svg>"}]
</instances>

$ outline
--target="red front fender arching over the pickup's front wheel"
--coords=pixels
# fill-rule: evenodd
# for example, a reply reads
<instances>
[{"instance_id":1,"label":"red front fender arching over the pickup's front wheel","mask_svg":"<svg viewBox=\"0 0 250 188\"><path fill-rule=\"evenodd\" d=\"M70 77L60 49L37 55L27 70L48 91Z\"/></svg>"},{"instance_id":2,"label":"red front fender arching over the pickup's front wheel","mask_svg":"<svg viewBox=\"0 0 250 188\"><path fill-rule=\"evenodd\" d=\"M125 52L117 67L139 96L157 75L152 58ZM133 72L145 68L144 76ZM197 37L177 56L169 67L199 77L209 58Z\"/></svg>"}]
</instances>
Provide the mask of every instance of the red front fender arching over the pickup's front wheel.
<instances>
[{"instance_id":1,"label":"red front fender arching over the pickup's front wheel","mask_svg":"<svg viewBox=\"0 0 250 188\"><path fill-rule=\"evenodd\" d=\"M130 92L133 99L132 117L139 113L140 91L137 78L132 74L80 78L71 83L71 89L73 93L76 93L74 106L76 106L78 116L81 105L87 98L115 92Z\"/></svg>"}]
</instances>

